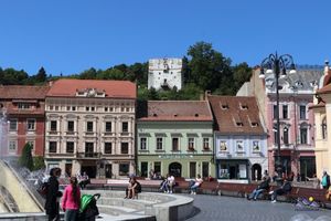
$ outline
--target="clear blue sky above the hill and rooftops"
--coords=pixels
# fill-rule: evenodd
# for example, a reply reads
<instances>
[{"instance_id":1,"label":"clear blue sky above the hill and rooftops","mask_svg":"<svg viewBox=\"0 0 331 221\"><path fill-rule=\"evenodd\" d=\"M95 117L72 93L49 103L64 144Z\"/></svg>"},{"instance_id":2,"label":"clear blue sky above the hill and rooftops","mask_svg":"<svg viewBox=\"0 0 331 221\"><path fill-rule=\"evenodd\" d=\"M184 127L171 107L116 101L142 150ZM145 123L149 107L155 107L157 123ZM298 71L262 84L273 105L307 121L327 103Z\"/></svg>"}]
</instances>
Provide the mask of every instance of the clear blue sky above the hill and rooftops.
<instances>
[{"instance_id":1,"label":"clear blue sky above the hill and rooftops","mask_svg":"<svg viewBox=\"0 0 331 221\"><path fill-rule=\"evenodd\" d=\"M0 67L53 76L182 57L199 41L258 65L331 60L330 0L1 0Z\"/></svg>"}]
</instances>

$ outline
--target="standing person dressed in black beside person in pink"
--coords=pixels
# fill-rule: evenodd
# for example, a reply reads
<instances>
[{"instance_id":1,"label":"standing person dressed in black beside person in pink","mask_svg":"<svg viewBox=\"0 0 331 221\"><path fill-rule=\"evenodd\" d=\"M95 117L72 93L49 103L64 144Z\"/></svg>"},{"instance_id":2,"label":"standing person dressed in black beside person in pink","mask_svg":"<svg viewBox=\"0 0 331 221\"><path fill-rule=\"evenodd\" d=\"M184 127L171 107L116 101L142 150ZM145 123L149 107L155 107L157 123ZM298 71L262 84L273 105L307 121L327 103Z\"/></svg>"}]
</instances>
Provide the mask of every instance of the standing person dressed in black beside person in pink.
<instances>
[{"instance_id":1,"label":"standing person dressed in black beside person in pink","mask_svg":"<svg viewBox=\"0 0 331 221\"><path fill-rule=\"evenodd\" d=\"M61 169L58 167L52 168L50 171L45 211L49 215L49 221L60 220L60 198L62 192L58 191L58 178L61 176Z\"/></svg>"}]
</instances>

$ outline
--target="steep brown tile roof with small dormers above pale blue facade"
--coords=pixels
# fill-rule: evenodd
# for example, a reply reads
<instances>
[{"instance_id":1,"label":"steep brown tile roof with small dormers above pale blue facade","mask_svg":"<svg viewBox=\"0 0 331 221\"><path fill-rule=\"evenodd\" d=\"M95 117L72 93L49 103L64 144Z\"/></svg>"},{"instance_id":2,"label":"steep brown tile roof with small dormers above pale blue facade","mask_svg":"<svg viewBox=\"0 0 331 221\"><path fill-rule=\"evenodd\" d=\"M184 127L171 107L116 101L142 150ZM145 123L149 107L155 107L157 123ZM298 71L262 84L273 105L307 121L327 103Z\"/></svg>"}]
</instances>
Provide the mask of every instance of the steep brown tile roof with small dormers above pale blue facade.
<instances>
[{"instance_id":1,"label":"steep brown tile roof with small dormers above pale blue facade","mask_svg":"<svg viewBox=\"0 0 331 221\"><path fill-rule=\"evenodd\" d=\"M216 119L216 128L222 134L263 135L265 129L259 117L255 97L207 96Z\"/></svg>"}]
</instances>

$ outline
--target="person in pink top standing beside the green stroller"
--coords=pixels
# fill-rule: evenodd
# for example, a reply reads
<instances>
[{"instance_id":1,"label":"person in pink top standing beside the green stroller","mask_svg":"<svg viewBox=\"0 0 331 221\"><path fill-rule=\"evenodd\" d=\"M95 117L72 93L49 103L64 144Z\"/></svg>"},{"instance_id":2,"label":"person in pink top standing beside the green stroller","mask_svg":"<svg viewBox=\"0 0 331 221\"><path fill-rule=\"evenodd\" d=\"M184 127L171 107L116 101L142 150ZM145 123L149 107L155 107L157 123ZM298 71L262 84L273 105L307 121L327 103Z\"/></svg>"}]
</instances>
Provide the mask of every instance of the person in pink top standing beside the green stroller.
<instances>
[{"instance_id":1,"label":"person in pink top standing beside the green stroller","mask_svg":"<svg viewBox=\"0 0 331 221\"><path fill-rule=\"evenodd\" d=\"M81 190L76 177L71 177L71 185L66 186L62 199L62 210L65 212L65 221L77 219L81 206Z\"/></svg>"}]
</instances>

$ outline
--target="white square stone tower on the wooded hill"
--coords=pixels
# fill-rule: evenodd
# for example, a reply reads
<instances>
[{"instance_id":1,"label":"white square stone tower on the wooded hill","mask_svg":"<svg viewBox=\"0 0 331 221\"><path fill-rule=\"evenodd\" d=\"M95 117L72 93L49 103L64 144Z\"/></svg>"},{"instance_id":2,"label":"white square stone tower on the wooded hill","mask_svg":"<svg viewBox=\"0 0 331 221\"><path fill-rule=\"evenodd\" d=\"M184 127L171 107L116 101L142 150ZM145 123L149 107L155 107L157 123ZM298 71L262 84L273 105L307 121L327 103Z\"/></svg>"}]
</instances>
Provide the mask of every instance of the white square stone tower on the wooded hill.
<instances>
[{"instance_id":1,"label":"white square stone tower on the wooded hill","mask_svg":"<svg viewBox=\"0 0 331 221\"><path fill-rule=\"evenodd\" d=\"M148 88L177 90L182 88L181 59L151 59L148 66Z\"/></svg>"}]
</instances>

